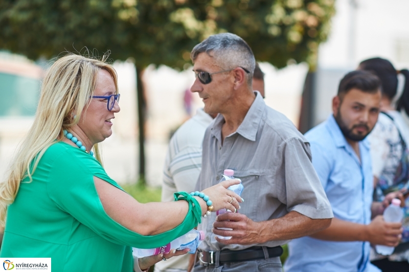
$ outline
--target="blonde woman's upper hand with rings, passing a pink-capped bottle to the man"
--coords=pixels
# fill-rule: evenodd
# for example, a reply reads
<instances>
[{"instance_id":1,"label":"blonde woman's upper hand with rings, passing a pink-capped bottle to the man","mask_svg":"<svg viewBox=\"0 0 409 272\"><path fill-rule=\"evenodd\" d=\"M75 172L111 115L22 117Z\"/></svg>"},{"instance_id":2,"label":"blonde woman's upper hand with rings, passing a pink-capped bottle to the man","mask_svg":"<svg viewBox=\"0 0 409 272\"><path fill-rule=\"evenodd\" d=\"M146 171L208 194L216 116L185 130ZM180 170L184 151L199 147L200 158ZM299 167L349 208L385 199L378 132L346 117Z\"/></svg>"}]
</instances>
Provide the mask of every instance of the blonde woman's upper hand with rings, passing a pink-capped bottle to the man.
<instances>
[{"instance_id":1,"label":"blonde woman's upper hand with rings, passing a pink-capped bottle to the man","mask_svg":"<svg viewBox=\"0 0 409 272\"><path fill-rule=\"evenodd\" d=\"M212 206L214 207L214 211L218 211L221 209L229 209L231 211L235 211L240 209L239 202L242 202L242 198L234 193L233 191L228 190L232 185L239 184L240 180L238 179L229 179L229 180L224 180L223 182L214 185L210 188L207 188L202 191L205 195L209 196L209 199L212 201ZM233 201L232 201L233 199ZM203 200L198 200L199 203L203 202ZM202 206L202 212L203 214L206 213L206 209L203 210Z\"/></svg>"}]
</instances>

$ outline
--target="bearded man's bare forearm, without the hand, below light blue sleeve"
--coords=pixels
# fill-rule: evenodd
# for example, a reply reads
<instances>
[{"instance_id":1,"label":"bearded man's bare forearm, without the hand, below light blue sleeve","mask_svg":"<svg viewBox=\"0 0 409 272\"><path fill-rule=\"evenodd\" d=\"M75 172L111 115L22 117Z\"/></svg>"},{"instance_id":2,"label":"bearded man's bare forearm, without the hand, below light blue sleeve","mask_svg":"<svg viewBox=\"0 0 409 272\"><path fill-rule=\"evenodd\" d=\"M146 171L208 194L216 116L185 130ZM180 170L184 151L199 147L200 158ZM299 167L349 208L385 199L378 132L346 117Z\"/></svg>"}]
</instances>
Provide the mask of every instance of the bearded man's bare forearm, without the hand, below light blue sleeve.
<instances>
[{"instance_id":1,"label":"bearded man's bare forearm, without the hand, below light blue sleeve","mask_svg":"<svg viewBox=\"0 0 409 272\"><path fill-rule=\"evenodd\" d=\"M366 241L367 225L332 218L329 228L310 235L327 241Z\"/></svg>"}]
</instances>

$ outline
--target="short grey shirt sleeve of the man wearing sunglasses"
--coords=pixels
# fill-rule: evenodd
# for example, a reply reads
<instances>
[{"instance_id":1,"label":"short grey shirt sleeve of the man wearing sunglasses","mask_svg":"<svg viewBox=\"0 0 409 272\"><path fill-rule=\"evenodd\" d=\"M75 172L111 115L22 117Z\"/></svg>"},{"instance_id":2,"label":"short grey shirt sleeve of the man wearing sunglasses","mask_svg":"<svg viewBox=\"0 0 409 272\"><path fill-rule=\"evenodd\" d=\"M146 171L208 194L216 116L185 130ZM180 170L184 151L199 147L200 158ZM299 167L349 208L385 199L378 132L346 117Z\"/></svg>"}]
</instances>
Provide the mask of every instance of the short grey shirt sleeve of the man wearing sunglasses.
<instances>
[{"instance_id":1,"label":"short grey shirt sleeve of the man wearing sunglasses","mask_svg":"<svg viewBox=\"0 0 409 272\"><path fill-rule=\"evenodd\" d=\"M333 213L320 178L311 162L310 147L299 138L291 138L279 147L277 166L278 199L287 211L297 211L312 219L332 218Z\"/></svg>"}]
</instances>

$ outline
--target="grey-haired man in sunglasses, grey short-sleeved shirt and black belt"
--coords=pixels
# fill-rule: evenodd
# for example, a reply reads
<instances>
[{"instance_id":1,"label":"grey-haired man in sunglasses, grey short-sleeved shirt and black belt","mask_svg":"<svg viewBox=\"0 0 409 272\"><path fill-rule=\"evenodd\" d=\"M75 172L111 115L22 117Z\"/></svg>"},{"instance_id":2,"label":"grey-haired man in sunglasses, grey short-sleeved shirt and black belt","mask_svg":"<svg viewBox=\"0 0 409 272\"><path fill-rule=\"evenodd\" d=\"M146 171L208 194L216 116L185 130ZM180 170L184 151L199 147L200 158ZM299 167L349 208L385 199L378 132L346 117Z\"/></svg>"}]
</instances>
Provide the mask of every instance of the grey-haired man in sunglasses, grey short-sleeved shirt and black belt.
<instances>
[{"instance_id":1,"label":"grey-haired man in sunglasses, grey short-sleeved shirt and black belt","mask_svg":"<svg viewBox=\"0 0 409 272\"><path fill-rule=\"evenodd\" d=\"M202 219L198 229L206 238L194 271L281 272L281 245L327 228L333 217L309 144L253 91L255 58L243 39L210 36L193 48L191 58L192 92L207 114L219 113L205 132L196 190L217 184L224 169L233 169L245 200L238 213Z\"/></svg>"}]
</instances>

